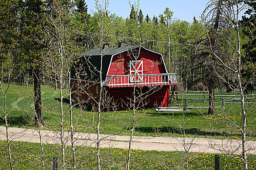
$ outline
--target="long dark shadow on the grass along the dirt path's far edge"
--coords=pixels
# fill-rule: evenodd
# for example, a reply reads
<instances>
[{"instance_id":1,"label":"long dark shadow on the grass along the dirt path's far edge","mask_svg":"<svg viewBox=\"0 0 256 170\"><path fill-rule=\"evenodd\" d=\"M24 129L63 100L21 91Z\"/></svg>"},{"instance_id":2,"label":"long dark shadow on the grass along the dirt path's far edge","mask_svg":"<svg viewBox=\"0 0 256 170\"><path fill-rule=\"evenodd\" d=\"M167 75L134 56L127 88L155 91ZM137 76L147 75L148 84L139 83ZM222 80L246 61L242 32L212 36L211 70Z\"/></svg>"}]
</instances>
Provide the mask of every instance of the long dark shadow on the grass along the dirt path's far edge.
<instances>
[{"instance_id":1,"label":"long dark shadow on the grass along the dirt path's far edge","mask_svg":"<svg viewBox=\"0 0 256 170\"><path fill-rule=\"evenodd\" d=\"M181 134L180 130L176 127L137 127L135 129L137 132L143 132L143 133L153 133L153 134L159 134L159 133L169 133L169 134ZM201 131L197 128L191 128L185 130L186 135L198 135L198 136L232 136L228 133L219 133L219 132L207 132L207 131Z\"/></svg>"}]
</instances>

